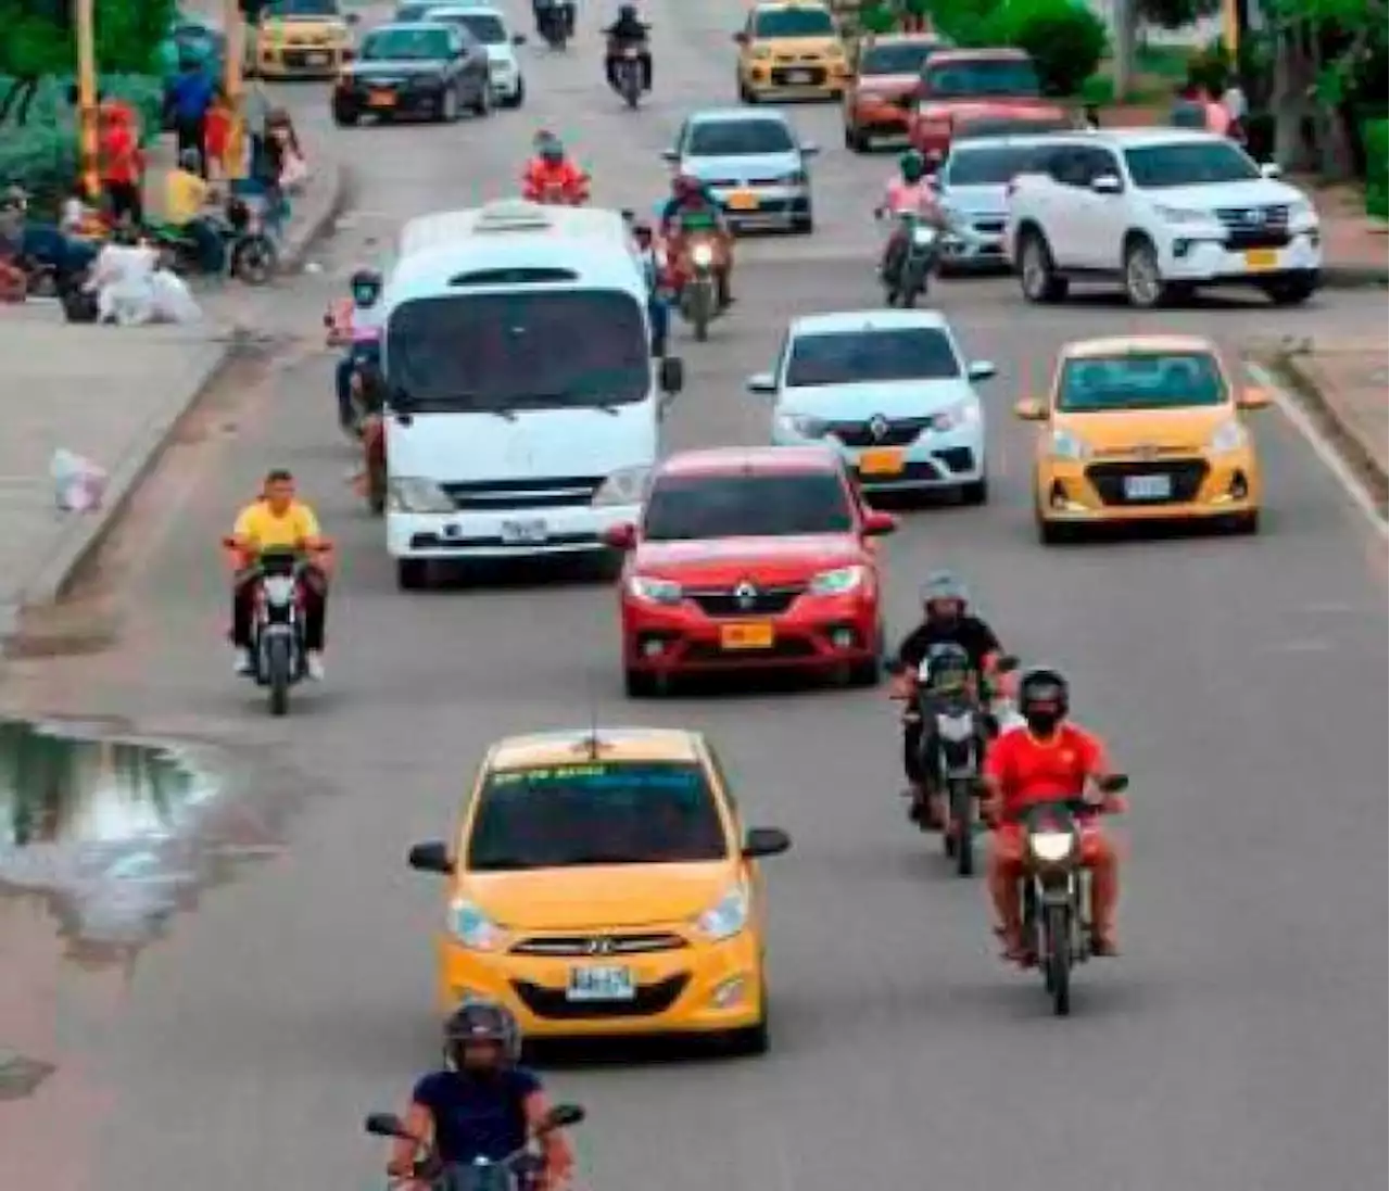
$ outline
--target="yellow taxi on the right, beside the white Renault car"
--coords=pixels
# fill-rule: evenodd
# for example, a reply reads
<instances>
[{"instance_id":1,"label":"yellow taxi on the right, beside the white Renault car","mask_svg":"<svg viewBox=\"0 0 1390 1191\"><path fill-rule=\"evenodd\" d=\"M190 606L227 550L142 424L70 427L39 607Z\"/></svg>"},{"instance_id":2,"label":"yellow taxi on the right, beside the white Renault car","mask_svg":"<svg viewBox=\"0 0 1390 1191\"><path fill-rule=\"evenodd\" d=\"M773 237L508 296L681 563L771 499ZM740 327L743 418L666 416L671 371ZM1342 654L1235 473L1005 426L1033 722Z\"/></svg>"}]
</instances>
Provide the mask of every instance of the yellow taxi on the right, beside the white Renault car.
<instances>
[{"instance_id":1,"label":"yellow taxi on the right, beside the white Renault car","mask_svg":"<svg viewBox=\"0 0 1390 1191\"><path fill-rule=\"evenodd\" d=\"M1062 349L1038 422L1033 492L1045 543L1113 521L1215 520L1259 528L1259 459L1241 413L1269 395L1240 388L1216 345L1187 335L1083 339Z\"/></svg>"}]
</instances>

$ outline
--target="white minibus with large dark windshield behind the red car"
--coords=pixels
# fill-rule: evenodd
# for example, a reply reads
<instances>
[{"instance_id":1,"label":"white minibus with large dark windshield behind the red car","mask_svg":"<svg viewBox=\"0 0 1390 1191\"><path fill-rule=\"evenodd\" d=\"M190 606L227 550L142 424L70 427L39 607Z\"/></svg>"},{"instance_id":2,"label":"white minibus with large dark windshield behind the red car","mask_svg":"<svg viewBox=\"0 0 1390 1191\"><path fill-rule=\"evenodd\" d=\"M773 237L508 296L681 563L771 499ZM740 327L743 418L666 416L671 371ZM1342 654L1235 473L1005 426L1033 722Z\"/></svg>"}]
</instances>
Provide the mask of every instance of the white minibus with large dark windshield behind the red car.
<instances>
[{"instance_id":1,"label":"white minibus with large dark windshield behind the red car","mask_svg":"<svg viewBox=\"0 0 1390 1191\"><path fill-rule=\"evenodd\" d=\"M617 211L505 200L413 220L386 282L386 549L606 550L637 518L678 360L653 368L646 279Z\"/></svg>"}]
</instances>

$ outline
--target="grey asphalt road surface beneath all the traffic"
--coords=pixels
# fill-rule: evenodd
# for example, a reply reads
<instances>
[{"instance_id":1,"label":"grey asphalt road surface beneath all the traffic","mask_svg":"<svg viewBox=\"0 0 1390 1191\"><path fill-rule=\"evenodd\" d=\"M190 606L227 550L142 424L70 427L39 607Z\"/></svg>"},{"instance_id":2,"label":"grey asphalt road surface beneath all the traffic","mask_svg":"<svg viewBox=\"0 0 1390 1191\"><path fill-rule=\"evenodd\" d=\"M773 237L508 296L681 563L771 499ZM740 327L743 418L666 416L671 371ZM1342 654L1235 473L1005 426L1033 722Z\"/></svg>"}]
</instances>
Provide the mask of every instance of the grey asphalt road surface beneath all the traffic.
<instances>
[{"instance_id":1,"label":"grey asphalt road surface beneath all the traffic","mask_svg":"<svg viewBox=\"0 0 1390 1191\"><path fill-rule=\"evenodd\" d=\"M325 133L357 164L359 210L325 272L274 297L274 325L303 329L306 346L224 392L139 503L97 581L124 607L120 643L21 675L49 706L227 744L246 781L299 805L289 845L208 892L128 977L44 977L38 991L61 1006L60 1070L43 1096L7 1106L28 1124L0 1145L0 1174L38 1141L47 1165L29 1153L24 1170L57 1162L63 1187L375 1185L381 1153L359 1120L399 1099L435 1048L439 891L406 870L406 846L446 831L492 738L596 709L609 723L709 731L751 820L796 842L769 866L773 1052L555 1073L557 1092L592 1112L587 1183L1383 1185L1384 545L1272 411L1258 431L1261 536L1042 550L1029 436L1008 420L1069 338L1201 329L1234 350L1257 334L1383 327L1383 299L1134 317L1106 302L1026 309L1006 281L938 292L970 352L1001 368L987 397L994 495L986 509L906 518L890 545L891 624L909 627L929 570L958 568L1013 649L1069 670L1081 718L1134 775L1126 955L1080 973L1069 1021L1048 1016L1036 977L995 959L979 882L948 877L903 821L881 692L631 706L603 586L532 574L396 592L381 527L342 479L350 457L332 427L329 360L309 346L329 279L404 217L509 192L538 125L591 164L600 200L655 197L656 151L678 118L733 95L737 7L652 6L659 92L639 114L602 88L589 32L564 58L527 53L521 114ZM322 118L317 88L292 95ZM785 320L876 304L865 210L891 161L842 154L834 110L796 120L827 146L821 227L751 246L734 315L709 346L682 345L676 447L764 441L766 411L741 381L770 360ZM214 548L271 464L299 474L342 555L329 681L286 723L231 678L217 638Z\"/></svg>"}]
</instances>

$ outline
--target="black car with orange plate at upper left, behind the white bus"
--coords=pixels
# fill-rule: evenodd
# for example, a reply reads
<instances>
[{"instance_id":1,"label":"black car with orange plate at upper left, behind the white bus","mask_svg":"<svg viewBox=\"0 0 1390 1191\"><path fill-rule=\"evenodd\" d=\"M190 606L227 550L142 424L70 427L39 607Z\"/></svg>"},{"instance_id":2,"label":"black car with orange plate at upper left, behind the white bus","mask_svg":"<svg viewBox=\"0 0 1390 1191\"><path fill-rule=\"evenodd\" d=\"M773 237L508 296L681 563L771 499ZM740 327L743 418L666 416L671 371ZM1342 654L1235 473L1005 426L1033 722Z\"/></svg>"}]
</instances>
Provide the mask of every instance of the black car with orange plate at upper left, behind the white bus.
<instances>
[{"instance_id":1,"label":"black car with orange plate at upper left, behind the white bus","mask_svg":"<svg viewBox=\"0 0 1390 1191\"><path fill-rule=\"evenodd\" d=\"M334 88L332 107L334 121L348 126L363 115L442 122L457 120L464 108L488 115L488 51L457 25L381 25L363 38L354 61Z\"/></svg>"}]
</instances>

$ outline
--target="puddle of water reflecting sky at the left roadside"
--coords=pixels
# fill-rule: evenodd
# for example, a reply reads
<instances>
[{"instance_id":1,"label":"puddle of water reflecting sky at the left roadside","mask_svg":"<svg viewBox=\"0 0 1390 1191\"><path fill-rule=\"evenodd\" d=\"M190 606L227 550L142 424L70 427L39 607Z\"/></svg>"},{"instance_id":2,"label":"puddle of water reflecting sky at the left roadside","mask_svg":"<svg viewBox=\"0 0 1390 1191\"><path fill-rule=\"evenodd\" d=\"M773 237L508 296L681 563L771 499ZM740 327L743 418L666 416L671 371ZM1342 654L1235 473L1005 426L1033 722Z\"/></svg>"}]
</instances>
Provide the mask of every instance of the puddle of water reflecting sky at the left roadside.
<instances>
[{"instance_id":1,"label":"puddle of water reflecting sky at the left roadside","mask_svg":"<svg viewBox=\"0 0 1390 1191\"><path fill-rule=\"evenodd\" d=\"M231 862L279 851L210 749L0 718L0 894L40 895L72 958L128 962Z\"/></svg>"}]
</instances>

